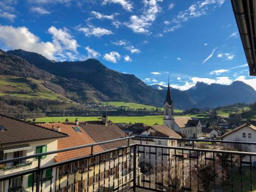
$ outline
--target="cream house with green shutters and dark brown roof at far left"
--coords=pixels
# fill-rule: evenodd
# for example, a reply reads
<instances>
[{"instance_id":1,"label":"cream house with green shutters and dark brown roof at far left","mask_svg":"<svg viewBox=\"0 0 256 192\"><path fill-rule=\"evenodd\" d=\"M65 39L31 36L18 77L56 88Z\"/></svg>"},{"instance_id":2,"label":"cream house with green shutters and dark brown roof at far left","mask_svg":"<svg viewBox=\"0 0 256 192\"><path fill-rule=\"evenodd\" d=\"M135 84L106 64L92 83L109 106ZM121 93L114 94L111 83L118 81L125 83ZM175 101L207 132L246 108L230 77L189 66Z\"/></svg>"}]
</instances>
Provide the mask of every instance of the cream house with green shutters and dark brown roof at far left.
<instances>
[{"instance_id":1,"label":"cream house with green shutters and dark brown roof at far left","mask_svg":"<svg viewBox=\"0 0 256 192\"><path fill-rule=\"evenodd\" d=\"M0 115L0 133L0 160L55 151L57 150L58 139L68 137L67 134L57 130L48 129L5 115ZM40 165L44 166L54 163L56 155L42 156L40 158ZM0 176L21 172L37 166L38 158L0 164ZM54 183L50 185L50 180L56 179L55 173L55 168L52 171L51 169L44 171L42 178L40 178L44 180L40 186L42 191L50 191L50 188L55 187ZM34 175L34 181L36 181L36 175ZM29 174L23 178L11 179L10 186L8 181L0 182L0 191L24 191L31 189L33 185L33 174Z\"/></svg>"}]
</instances>

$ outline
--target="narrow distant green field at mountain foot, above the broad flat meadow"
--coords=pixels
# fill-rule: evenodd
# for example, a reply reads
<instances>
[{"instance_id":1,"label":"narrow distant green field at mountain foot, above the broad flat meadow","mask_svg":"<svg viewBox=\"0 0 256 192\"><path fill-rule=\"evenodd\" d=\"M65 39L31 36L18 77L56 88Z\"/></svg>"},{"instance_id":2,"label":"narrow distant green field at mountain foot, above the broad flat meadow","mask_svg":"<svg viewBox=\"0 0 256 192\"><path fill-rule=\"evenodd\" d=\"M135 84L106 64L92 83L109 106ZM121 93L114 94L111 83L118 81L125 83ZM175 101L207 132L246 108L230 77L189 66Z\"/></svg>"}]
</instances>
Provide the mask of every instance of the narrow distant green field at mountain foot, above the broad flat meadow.
<instances>
[{"instance_id":1,"label":"narrow distant green field at mountain foot, above the broad flat meadow","mask_svg":"<svg viewBox=\"0 0 256 192\"><path fill-rule=\"evenodd\" d=\"M102 102L103 105L112 105L116 107L122 107L125 109L130 109L130 110L138 110L138 109L146 109L148 111L155 111L156 106L152 105L145 105L145 104L139 104L139 103L131 103L131 102L119 102L119 101L109 101L109 102ZM163 111L163 108L158 108L159 111ZM176 113L181 113L182 110L174 110Z\"/></svg>"}]
</instances>

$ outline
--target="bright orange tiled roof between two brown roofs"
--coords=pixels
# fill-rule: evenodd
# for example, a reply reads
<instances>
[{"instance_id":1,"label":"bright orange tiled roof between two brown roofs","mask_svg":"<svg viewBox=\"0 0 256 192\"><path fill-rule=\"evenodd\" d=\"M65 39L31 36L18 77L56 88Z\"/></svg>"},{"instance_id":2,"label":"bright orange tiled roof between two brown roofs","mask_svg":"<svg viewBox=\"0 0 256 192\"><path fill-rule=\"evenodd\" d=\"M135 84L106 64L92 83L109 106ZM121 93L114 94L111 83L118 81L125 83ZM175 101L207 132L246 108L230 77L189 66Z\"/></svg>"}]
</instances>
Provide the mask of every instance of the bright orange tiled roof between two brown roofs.
<instances>
[{"instance_id":1,"label":"bright orange tiled roof between two brown roofs","mask_svg":"<svg viewBox=\"0 0 256 192\"><path fill-rule=\"evenodd\" d=\"M58 139L58 150L62 150L63 148L70 148L74 146L95 143L96 141L86 133L82 127L77 126L74 123L48 123L48 124L41 124L42 126L57 129L57 126L60 127L60 131L66 134L69 134L69 137ZM74 127L77 127L80 131L75 131ZM104 149L100 146L94 146L93 152L101 152ZM72 150L67 152L61 152L57 154L55 158L56 162L73 159L77 157L87 156L91 154L91 147L87 148L80 148L78 150Z\"/></svg>"}]
</instances>

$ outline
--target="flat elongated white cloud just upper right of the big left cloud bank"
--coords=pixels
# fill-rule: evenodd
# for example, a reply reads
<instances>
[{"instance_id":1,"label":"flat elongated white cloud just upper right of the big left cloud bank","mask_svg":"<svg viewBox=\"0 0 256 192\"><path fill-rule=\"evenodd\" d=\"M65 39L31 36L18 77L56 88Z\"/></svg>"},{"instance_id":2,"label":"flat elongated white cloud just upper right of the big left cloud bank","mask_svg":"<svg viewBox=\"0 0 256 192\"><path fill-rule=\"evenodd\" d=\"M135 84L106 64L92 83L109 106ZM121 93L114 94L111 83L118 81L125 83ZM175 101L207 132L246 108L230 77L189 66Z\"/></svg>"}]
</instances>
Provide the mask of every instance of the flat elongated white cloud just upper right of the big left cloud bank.
<instances>
[{"instance_id":1,"label":"flat elongated white cloud just upper right of the big left cloud bank","mask_svg":"<svg viewBox=\"0 0 256 192\"><path fill-rule=\"evenodd\" d=\"M92 25L88 25L88 27L78 28L78 31L83 32L84 35L86 35L88 37L89 36L100 37L102 35L112 35L113 34L113 32L108 29L94 27Z\"/></svg>"}]
</instances>

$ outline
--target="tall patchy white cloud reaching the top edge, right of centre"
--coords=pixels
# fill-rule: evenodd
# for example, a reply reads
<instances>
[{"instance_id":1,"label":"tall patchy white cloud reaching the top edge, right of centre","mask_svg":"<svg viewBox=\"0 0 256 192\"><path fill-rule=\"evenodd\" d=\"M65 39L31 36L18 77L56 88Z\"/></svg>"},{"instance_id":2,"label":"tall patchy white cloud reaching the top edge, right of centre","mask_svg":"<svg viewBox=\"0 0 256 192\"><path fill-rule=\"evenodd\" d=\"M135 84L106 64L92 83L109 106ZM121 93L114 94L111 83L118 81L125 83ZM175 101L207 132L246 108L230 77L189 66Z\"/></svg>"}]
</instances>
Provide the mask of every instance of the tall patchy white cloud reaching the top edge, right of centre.
<instances>
[{"instance_id":1,"label":"tall patchy white cloud reaching the top edge, right of centre","mask_svg":"<svg viewBox=\"0 0 256 192\"><path fill-rule=\"evenodd\" d=\"M144 0L143 14L139 16L132 15L130 21L125 22L124 25L132 29L134 33L150 33L149 28L161 10L158 2L162 2L162 0Z\"/></svg>"}]
</instances>

